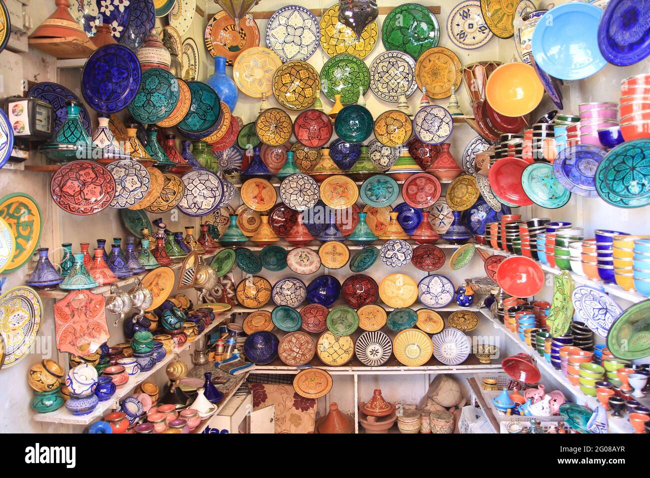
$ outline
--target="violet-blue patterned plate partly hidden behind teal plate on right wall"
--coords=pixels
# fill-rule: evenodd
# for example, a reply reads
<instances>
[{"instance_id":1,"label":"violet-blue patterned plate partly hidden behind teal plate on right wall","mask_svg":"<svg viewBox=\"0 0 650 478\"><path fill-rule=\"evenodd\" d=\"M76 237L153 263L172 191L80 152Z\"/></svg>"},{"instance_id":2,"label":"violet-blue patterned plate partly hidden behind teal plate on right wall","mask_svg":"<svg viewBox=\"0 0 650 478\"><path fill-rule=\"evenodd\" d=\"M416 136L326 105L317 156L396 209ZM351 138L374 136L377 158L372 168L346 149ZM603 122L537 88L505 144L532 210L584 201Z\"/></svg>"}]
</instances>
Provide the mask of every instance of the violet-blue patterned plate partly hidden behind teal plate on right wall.
<instances>
[{"instance_id":1,"label":"violet-blue patterned plate partly hidden behind teal plate on right wall","mask_svg":"<svg viewBox=\"0 0 650 478\"><path fill-rule=\"evenodd\" d=\"M558 182L571 193L586 198L597 198L595 176L606 152L590 144L564 148L553 162L553 173Z\"/></svg>"}]
</instances>

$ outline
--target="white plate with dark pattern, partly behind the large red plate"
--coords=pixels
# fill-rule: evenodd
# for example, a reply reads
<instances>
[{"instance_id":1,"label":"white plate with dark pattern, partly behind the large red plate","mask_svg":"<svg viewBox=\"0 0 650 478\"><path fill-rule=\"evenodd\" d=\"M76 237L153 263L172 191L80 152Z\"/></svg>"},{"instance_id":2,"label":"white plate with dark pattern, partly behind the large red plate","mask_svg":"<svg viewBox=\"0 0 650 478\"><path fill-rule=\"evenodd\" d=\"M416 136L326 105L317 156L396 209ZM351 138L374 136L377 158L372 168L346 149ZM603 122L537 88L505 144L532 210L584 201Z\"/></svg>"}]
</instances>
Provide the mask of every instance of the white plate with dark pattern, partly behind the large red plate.
<instances>
[{"instance_id":1,"label":"white plate with dark pattern, partly behind the large red plate","mask_svg":"<svg viewBox=\"0 0 650 478\"><path fill-rule=\"evenodd\" d=\"M106 168L115 178L115 196L110 207L124 209L138 204L144 199L151 186L147 168L132 159L113 161Z\"/></svg>"}]
</instances>

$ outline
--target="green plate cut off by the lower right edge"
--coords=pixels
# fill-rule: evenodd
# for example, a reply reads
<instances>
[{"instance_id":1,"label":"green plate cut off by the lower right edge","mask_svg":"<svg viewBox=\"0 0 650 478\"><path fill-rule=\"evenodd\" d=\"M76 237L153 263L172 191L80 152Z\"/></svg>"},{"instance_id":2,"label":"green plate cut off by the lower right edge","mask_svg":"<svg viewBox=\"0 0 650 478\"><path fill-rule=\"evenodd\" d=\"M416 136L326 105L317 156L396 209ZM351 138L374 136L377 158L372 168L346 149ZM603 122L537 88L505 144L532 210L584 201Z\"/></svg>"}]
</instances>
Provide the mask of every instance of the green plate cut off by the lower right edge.
<instances>
[{"instance_id":1,"label":"green plate cut off by the lower right edge","mask_svg":"<svg viewBox=\"0 0 650 478\"><path fill-rule=\"evenodd\" d=\"M607 333L607 348L624 360L650 355L650 299L634 304L618 316Z\"/></svg>"}]
</instances>

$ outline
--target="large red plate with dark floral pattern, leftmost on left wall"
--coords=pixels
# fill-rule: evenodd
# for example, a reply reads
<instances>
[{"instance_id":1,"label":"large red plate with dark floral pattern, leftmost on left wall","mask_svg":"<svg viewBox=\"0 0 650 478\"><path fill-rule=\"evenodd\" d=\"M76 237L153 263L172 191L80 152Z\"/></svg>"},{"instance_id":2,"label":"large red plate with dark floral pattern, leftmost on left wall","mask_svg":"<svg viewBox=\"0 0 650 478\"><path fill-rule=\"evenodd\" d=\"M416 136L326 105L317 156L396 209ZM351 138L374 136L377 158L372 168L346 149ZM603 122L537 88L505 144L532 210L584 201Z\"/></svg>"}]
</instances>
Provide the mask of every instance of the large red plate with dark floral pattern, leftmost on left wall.
<instances>
[{"instance_id":1,"label":"large red plate with dark floral pattern, leftmost on left wall","mask_svg":"<svg viewBox=\"0 0 650 478\"><path fill-rule=\"evenodd\" d=\"M115 178L99 163L72 161L55 172L49 191L67 213L88 216L109 206L115 196Z\"/></svg>"}]
</instances>

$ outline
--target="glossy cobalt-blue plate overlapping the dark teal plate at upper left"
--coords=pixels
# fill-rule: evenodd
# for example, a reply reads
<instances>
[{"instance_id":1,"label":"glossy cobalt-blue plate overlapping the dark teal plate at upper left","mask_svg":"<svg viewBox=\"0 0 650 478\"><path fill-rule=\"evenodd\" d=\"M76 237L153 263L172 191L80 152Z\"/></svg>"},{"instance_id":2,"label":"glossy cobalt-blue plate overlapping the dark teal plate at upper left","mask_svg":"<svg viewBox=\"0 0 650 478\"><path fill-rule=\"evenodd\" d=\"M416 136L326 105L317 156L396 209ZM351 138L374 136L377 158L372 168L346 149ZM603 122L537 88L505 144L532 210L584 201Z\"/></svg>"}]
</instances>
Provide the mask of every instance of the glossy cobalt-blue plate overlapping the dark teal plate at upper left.
<instances>
[{"instance_id":1,"label":"glossy cobalt-blue plate overlapping the dark teal plate at upper left","mask_svg":"<svg viewBox=\"0 0 650 478\"><path fill-rule=\"evenodd\" d=\"M131 103L140 86L140 62L129 47L105 45L96 49L81 72L86 103L100 113L116 113Z\"/></svg>"}]
</instances>

